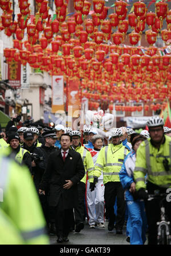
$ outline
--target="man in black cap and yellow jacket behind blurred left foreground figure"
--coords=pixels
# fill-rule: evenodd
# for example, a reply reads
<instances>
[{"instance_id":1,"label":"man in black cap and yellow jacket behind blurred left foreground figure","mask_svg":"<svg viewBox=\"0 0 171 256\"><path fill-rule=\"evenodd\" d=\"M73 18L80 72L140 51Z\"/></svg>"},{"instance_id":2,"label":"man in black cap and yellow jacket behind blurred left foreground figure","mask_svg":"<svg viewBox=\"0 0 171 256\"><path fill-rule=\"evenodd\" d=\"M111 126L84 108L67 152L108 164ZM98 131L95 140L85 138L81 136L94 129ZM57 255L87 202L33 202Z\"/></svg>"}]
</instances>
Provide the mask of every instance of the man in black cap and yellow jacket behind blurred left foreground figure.
<instances>
[{"instance_id":1,"label":"man in black cap and yellow jacket behind blurred left foreground figure","mask_svg":"<svg viewBox=\"0 0 171 256\"><path fill-rule=\"evenodd\" d=\"M19 145L20 138L18 133L10 133L8 138L9 146L5 148L4 153L6 155L11 155L15 158L15 160L18 163L21 163L22 165L25 164L28 169L30 170L30 173L32 172L31 167L31 155L26 149L22 149Z\"/></svg>"}]
</instances>

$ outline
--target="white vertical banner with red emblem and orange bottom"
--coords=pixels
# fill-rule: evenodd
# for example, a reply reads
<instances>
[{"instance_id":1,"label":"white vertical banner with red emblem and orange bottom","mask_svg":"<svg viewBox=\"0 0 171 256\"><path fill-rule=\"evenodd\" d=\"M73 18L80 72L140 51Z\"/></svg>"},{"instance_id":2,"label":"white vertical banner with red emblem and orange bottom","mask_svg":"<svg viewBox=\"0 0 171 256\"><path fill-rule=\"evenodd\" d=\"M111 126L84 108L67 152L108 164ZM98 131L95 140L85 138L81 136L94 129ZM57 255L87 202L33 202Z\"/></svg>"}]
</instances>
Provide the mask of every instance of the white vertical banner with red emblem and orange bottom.
<instances>
[{"instance_id":1,"label":"white vertical banner with red emblem and orange bottom","mask_svg":"<svg viewBox=\"0 0 171 256\"><path fill-rule=\"evenodd\" d=\"M52 113L64 110L63 75L52 75Z\"/></svg>"}]
</instances>

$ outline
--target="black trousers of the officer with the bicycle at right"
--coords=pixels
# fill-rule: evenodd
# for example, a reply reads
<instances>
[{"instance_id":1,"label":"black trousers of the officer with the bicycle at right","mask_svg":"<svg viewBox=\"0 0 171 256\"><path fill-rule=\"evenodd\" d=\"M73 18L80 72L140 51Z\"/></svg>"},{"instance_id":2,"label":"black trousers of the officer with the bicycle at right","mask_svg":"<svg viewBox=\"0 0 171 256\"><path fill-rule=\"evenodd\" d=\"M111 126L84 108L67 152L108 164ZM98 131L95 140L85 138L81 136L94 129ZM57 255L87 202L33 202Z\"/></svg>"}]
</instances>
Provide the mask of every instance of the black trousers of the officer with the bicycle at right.
<instances>
[{"instance_id":1,"label":"black trousers of the officer with the bicycle at right","mask_svg":"<svg viewBox=\"0 0 171 256\"><path fill-rule=\"evenodd\" d=\"M166 189L158 187L148 182L146 189L148 194L154 194L154 190L160 190L160 193L166 193ZM166 218L171 223L171 202L164 201ZM145 201L146 219L148 223L148 244L157 245L157 221L161 220L160 199Z\"/></svg>"}]
</instances>

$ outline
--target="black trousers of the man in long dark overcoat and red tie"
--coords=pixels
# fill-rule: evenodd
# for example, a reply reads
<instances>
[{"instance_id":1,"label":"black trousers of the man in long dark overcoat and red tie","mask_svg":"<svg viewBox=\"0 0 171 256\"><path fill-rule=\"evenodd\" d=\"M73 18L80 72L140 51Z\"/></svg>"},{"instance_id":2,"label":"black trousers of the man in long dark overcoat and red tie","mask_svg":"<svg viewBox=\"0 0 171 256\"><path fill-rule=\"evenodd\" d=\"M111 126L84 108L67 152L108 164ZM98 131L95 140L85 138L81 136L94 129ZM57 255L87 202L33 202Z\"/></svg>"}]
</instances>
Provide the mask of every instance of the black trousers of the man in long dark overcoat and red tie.
<instances>
[{"instance_id":1,"label":"black trousers of the man in long dark overcoat and red tie","mask_svg":"<svg viewBox=\"0 0 171 256\"><path fill-rule=\"evenodd\" d=\"M55 227L58 237L68 237L72 213L73 209L63 209L62 199L60 198L58 205L55 207Z\"/></svg>"}]
</instances>

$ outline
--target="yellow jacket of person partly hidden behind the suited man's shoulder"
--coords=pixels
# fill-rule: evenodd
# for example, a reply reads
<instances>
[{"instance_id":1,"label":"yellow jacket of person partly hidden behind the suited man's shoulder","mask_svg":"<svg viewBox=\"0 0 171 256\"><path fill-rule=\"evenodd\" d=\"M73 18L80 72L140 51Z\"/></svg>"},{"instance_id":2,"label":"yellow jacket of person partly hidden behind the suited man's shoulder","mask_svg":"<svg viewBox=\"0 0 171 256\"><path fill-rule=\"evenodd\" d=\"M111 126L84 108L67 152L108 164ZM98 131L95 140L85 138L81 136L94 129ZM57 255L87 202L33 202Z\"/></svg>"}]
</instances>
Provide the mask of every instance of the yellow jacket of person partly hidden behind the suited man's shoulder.
<instances>
[{"instance_id":1,"label":"yellow jacket of person partly hidden behind the suited man's shoulder","mask_svg":"<svg viewBox=\"0 0 171 256\"><path fill-rule=\"evenodd\" d=\"M72 149L74 149L74 147L72 147ZM84 146L78 146L74 150L80 153L80 155L82 156L82 160L85 168L85 175L80 181L86 183L87 173L88 173L88 181L93 182L94 164L93 164L93 159L90 152Z\"/></svg>"}]
</instances>

